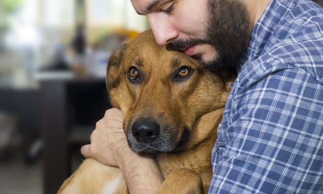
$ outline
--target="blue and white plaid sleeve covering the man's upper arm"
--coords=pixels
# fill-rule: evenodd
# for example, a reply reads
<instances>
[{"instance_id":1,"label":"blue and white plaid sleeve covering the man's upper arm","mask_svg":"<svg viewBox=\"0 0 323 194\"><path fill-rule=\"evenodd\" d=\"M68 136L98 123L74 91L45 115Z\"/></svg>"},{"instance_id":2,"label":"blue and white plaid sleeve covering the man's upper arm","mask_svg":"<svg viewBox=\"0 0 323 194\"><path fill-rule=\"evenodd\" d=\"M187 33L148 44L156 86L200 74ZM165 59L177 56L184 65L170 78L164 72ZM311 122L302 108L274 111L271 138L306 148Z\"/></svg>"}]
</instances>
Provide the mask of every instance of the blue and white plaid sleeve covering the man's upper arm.
<instances>
[{"instance_id":1,"label":"blue and white plaid sleeve covering the man's upper arm","mask_svg":"<svg viewBox=\"0 0 323 194\"><path fill-rule=\"evenodd\" d=\"M209 193L321 193L322 83L302 68L278 68L235 98Z\"/></svg>"}]
</instances>

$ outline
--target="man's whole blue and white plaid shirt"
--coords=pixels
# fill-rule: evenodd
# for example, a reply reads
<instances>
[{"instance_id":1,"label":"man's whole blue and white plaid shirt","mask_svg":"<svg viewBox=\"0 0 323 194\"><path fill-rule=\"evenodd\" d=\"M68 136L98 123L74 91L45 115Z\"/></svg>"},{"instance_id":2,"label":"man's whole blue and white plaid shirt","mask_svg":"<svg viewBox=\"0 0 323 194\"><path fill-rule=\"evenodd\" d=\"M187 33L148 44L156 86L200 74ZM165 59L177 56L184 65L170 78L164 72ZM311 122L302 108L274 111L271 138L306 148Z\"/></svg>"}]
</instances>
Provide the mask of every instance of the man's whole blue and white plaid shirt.
<instances>
[{"instance_id":1,"label":"man's whole blue and white plaid shirt","mask_svg":"<svg viewBox=\"0 0 323 194\"><path fill-rule=\"evenodd\" d=\"M240 62L209 193L323 193L323 9L271 0Z\"/></svg>"}]
</instances>

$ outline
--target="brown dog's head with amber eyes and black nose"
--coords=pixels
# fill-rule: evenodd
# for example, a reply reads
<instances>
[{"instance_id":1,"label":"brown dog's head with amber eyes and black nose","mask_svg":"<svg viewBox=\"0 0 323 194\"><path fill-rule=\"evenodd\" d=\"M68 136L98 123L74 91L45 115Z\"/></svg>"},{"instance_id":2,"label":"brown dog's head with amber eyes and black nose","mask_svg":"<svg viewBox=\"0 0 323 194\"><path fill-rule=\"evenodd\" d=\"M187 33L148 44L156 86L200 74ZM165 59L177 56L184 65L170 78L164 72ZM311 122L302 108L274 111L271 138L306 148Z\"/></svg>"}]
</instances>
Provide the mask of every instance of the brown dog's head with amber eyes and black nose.
<instances>
[{"instance_id":1,"label":"brown dog's head with amber eyes and black nose","mask_svg":"<svg viewBox=\"0 0 323 194\"><path fill-rule=\"evenodd\" d=\"M130 148L150 153L180 150L203 133L194 131L196 120L225 105L234 79L231 71L205 70L157 45L148 30L112 54L106 82L112 106L124 114Z\"/></svg>"}]
</instances>

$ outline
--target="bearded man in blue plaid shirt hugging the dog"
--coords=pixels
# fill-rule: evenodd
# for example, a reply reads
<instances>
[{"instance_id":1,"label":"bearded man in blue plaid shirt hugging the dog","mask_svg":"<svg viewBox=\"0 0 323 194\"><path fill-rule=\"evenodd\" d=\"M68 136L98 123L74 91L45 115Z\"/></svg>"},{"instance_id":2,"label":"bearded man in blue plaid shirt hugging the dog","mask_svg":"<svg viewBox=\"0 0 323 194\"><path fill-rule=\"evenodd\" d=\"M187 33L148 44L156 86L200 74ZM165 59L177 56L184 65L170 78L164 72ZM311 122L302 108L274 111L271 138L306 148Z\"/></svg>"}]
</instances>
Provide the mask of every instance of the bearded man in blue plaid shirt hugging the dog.
<instances>
[{"instance_id":1,"label":"bearded man in blue plaid shirt hugging the dog","mask_svg":"<svg viewBox=\"0 0 323 194\"><path fill-rule=\"evenodd\" d=\"M170 43L206 68L238 71L212 151L209 193L323 191L320 6L310 0L131 2L148 17L158 44ZM163 181L153 159L119 146L105 149L125 138L119 114L108 110L81 152L118 166L131 193L153 193Z\"/></svg>"}]
</instances>

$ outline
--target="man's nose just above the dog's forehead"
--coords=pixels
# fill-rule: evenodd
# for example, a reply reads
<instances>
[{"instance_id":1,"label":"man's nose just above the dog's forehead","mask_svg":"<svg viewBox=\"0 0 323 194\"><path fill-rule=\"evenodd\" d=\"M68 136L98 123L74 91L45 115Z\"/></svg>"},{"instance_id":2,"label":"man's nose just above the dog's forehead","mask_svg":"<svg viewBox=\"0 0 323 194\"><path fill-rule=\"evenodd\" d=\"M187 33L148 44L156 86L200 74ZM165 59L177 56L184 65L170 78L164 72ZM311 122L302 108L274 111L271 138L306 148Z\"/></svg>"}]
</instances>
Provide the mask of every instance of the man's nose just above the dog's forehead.
<instances>
[{"instance_id":1,"label":"man's nose just above the dog's forehead","mask_svg":"<svg viewBox=\"0 0 323 194\"><path fill-rule=\"evenodd\" d=\"M178 37L176 27L164 16L151 16L148 21L152 28L154 37L158 45L165 45L171 43Z\"/></svg>"}]
</instances>

